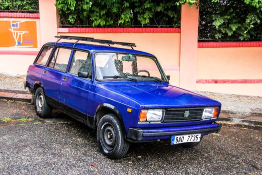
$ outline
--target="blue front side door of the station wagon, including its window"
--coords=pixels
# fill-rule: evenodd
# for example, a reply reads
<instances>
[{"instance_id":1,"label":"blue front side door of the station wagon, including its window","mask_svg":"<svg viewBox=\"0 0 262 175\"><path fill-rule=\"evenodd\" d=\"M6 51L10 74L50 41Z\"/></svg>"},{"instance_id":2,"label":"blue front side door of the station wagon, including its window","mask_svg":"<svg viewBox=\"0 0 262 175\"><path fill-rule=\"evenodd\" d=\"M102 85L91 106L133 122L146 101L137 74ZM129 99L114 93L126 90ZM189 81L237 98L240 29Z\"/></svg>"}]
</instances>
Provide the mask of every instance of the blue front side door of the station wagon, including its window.
<instances>
[{"instance_id":1,"label":"blue front side door of the station wagon, including its window","mask_svg":"<svg viewBox=\"0 0 262 175\"><path fill-rule=\"evenodd\" d=\"M88 72L86 78L79 77L78 71ZM71 113L87 119L87 99L92 83L91 54L74 50L67 73L63 73L60 83L60 102L71 108Z\"/></svg>"}]
</instances>

